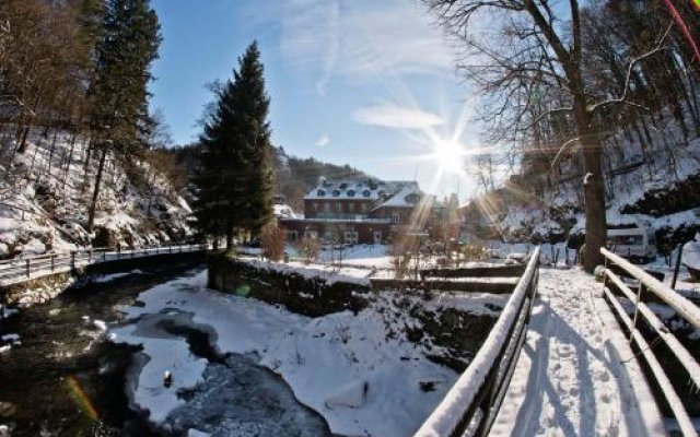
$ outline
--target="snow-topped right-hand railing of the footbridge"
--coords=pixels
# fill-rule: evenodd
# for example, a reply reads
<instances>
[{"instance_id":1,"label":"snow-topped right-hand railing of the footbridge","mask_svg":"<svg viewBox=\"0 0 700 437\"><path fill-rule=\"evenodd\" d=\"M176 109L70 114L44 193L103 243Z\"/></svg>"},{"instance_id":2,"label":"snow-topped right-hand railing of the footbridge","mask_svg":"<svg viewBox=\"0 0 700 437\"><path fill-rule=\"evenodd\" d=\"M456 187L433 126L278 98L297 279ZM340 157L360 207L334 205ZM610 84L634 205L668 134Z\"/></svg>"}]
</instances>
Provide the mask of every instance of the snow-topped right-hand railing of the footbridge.
<instances>
[{"instance_id":1,"label":"snow-topped right-hand railing of the footbridge","mask_svg":"<svg viewBox=\"0 0 700 437\"><path fill-rule=\"evenodd\" d=\"M676 312L686 319L695 329L700 329L700 308L626 259L605 248L600 249L600 252L605 257L603 284L606 300L612 307L617 318L629 333L630 343L638 351L638 355L646 363L649 370L656 380L664 399L678 422L682 435L697 436L698 434L678 392L674 389L666 371L656 355L654 355L653 345L650 345L639 328L641 316L646 321L645 326L652 330L655 339L661 339L654 340L654 342L663 341L668 346L667 350L670 351L675 359L688 373L688 382L692 385L691 389L697 391L700 390L700 365L698 361L684 347L678 339L668 331L666 326L656 317L644 300L645 296L651 297L650 294L653 295L655 300L661 299L661 302L675 309ZM635 280L638 283L635 285L635 292L632 291L631 285L628 285L620 275L614 271L623 272L625 275ZM617 291L634 305L634 312L631 318L612 290Z\"/></svg>"}]
</instances>

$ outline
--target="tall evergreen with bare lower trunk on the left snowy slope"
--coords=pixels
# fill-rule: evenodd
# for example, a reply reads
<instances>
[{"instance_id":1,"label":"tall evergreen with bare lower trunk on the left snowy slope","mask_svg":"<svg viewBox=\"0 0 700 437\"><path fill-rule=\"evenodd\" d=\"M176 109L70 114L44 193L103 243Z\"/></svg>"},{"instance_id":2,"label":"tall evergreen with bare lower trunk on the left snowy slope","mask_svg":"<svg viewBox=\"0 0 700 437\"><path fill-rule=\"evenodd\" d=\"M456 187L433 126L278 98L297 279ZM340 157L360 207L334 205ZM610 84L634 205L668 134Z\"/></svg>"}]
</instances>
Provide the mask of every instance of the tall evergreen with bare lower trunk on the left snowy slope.
<instances>
[{"instance_id":1,"label":"tall evergreen with bare lower trunk on the left snowy slope","mask_svg":"<svg viewBox=\"0 0 700 437\"><path fill-rule=\"evenodd\" d=\"M148 117L150 66L161 43L158 15L149 0L107 0L95 50L90 123L100 164L90 204L92 229L107 152L128 156L141 144Z\"/></svg>"}]
</instances>

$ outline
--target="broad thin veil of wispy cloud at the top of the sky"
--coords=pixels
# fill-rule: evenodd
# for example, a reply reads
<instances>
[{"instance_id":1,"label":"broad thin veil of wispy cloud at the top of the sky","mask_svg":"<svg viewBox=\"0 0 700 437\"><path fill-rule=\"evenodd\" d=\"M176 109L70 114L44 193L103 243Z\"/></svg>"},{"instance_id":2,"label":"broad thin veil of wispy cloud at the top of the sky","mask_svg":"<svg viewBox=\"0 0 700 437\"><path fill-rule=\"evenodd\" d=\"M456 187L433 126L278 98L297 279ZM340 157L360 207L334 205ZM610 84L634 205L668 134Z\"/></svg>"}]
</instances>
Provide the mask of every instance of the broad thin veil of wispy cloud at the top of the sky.
<instances>
[{"instance_id":1,"label":"broad thin veil of wispy cloud at the top of the sky","mask_svg":"<svg viewBox=\"0 0 700 437\"><path fill-rule=\"evenodd\" d=\"M279 10L280 51L319 95L334 76L366 81L452 71L453 52L411 1L287 0Z\"/></svg>"}]
</instances>

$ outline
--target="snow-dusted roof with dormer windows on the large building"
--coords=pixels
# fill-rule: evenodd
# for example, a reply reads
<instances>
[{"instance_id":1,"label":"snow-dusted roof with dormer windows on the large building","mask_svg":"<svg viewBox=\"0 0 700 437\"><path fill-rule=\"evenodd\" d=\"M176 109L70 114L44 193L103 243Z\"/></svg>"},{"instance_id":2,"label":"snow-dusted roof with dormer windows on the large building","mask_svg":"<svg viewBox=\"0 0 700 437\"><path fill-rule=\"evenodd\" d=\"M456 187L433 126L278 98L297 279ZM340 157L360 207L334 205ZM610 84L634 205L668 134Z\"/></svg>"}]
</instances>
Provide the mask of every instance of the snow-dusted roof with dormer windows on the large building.
<instances>
[{"instance_id":1,"label":"snow-dusted roof with dormer windows on the large building","mask_svg":"<svg viewBox=\"0 0 700 437\"><path fill-rule=\"evenodd\" d=\"M320 179L318 185L314 187L304 199L306 200L373 200L378 201L397 193L407 185L418 184L406 180L372 180L372 179L346 179L346 180L326 180Z\"/></svg>"}]
</instances>

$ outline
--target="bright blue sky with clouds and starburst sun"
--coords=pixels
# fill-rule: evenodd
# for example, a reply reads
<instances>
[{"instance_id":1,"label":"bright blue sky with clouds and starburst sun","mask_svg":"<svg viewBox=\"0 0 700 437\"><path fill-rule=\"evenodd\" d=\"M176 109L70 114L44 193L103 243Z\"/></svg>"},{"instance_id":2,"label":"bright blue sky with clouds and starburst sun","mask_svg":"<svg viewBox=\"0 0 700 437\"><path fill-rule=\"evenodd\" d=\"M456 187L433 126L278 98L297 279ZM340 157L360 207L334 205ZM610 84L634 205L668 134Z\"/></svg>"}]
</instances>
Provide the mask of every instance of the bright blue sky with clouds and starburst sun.
<instances>
[{"instance_id":1,"label":"bright blue sky with clouds and starburst sun","mask_svg":"<svg viewBox=\"0 0 700 437\"><path fill-rule=\"evenodd\" d=\"M163 43L151 107L176 144L197 139L206 85L226 80L256 39L272 143L290 155L474 191L462 161L478 150L475 99L455 52L417 0L152 0Z\"/></svg>"}]
</instances>

